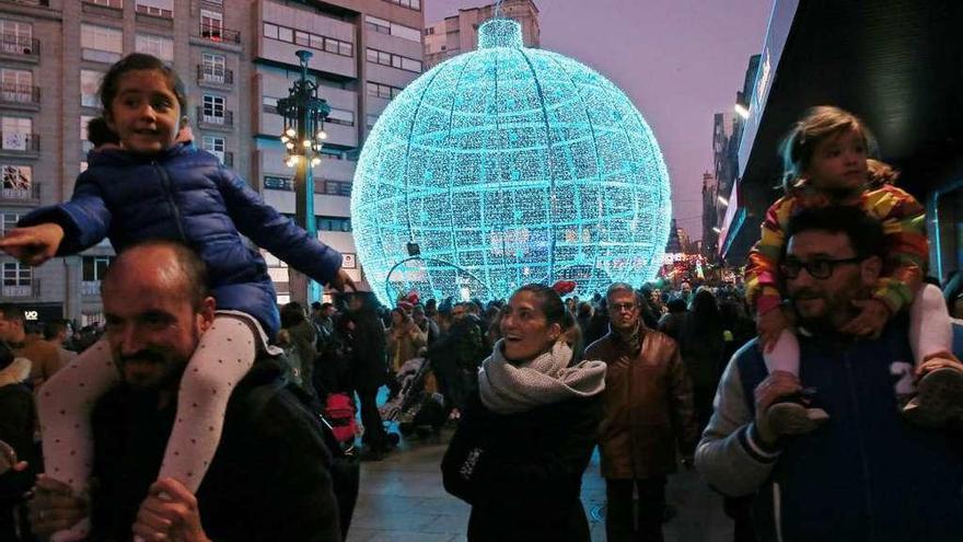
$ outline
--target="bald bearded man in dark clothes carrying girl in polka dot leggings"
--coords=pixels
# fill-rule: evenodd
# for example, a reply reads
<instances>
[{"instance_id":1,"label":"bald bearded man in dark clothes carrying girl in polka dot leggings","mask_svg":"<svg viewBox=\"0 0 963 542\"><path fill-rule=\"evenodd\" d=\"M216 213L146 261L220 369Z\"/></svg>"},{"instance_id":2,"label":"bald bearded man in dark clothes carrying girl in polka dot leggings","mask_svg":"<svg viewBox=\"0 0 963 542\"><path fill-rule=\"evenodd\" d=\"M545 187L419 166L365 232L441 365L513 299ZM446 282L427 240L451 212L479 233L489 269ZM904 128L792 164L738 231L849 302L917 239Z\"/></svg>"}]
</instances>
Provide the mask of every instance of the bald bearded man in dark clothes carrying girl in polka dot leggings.
<instances>
[{"instance_id":1,"label":"bald bearded man in dark clothes carrying girl in polka dot leggings","mask_svg":"<svg viewBox=\"0 0 963 542\"><path fill-rule=\"evenodd\" d=\"M129 247L108 267L104 313L121 384L100 399L92 417L90 540L130 540L132 533L144 540L339 541L323 433L277 388L281 367L265 354L232 392L197 494L174 478L155 481L181 376L213 322L206 284L200 260L166 241ZM271 393L262 401L265 387ZM55 475L42 475L31 504L38 534L76 523L85 508Z\"/></svg>"}]
</instances>

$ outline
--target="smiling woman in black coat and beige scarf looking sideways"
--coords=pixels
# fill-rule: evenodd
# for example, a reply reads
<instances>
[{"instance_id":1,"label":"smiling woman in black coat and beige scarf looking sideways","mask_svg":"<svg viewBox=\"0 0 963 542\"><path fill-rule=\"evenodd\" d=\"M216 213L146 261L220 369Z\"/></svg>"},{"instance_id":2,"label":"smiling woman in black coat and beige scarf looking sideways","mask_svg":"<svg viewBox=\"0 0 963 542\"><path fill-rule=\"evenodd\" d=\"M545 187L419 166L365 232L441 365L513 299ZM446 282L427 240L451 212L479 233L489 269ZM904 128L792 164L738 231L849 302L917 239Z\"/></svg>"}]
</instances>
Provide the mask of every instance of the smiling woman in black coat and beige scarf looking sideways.
<instances>
[{"instance_id":1,"label":"smiling woman in black coat and beige scarf looking sideways","mask_svg":"<svg viewBox=\"0 0 963 542\"><path fill-rule=\"evenodd\" d=\"M441 464L445 489L472 505L471 541L589 540L579 494L605 364L571 365L564 318L541 285L515 290L502 311L502 338Z\"/></svg>"}]
</instances>

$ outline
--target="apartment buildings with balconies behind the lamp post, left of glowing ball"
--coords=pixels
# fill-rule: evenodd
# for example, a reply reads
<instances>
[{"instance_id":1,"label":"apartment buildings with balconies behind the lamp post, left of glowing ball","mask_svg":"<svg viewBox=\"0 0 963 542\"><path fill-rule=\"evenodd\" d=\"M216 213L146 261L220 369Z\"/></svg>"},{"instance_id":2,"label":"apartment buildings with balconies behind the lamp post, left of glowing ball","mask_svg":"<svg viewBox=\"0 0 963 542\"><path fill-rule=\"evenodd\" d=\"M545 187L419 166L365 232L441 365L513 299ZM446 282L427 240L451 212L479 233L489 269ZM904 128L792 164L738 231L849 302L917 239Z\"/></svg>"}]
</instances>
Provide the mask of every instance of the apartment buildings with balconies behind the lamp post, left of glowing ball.
<instances>
[{"instance_id":1,"label":"apartment buildings with balconies behind the lamp post, left of glowing ball","mask_svg":"<svg viewBox=\"0 0 963 542\"><path fill-rule=\"evenodd\" d=\"M0 232L70 197L86 166L86 123L101 113L100 80L132 51L181 76L195 143L293 216L275 105L300 77L294 51L308 49L309 76L332 105L314 169L320 238L361 279L350 233L355 163L378 115L422 71L422 26L420 0L0 0ZM37 320L97 321L112 256L106 241L37 268L0 256L0 298ZM265 256L286 302L287 268Z\"/></svg>"}]
</instances>

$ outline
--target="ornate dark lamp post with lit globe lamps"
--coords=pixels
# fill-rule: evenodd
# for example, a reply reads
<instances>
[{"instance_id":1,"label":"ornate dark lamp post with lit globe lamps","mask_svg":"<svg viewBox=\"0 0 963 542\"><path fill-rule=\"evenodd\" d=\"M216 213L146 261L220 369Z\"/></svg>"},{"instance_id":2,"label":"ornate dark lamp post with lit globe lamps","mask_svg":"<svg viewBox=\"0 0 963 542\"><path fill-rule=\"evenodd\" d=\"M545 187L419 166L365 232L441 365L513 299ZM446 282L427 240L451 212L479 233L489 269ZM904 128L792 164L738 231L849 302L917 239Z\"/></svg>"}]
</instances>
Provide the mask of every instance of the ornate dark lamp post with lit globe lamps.
<instances>
[{"instance_id":1,"label":"ornate dark lamp post with lit globe lamps","mask_svg":"<svg viewBox=\"0 0 963 542\"><path fill-rule=\"evenodd\" d=\"M294 168L294 222L314 239L317 239L317 223L314 217L314 175L312 169L321 163L321 148L327 134L324 119L330 106L317 97L317 84L308 79L308 61L313 56L310 50L295 53L301 64L301 78L288 91L288 97L278 100L278 113L285 118L285 162ZM292 301L308 307L320 298L317 282L304 274L288 267L289 291Z\"/></svg>"}]
</instances>

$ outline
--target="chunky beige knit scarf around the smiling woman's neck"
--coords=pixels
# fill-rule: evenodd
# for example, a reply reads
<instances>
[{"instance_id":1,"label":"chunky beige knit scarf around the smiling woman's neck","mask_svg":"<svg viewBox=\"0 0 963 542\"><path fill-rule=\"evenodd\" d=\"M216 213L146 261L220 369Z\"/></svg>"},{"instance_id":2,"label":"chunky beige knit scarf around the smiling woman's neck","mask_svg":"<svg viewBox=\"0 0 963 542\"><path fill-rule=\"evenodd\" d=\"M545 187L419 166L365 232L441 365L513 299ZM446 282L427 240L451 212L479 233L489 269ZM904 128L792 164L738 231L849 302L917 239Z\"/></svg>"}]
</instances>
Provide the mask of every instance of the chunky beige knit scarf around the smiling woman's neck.
<instances>
[{"instance_id":1,"label":"chunky beige knit scarf around the smiling woman's neck","mask_svg":"<svg viewBox=\"0 0 963 542\"><path fill-rule=\"evenodd\" d=\"M592 396L605 389L605 362L581 361L569 367L572 350L559 341L531 361L512 365L502 354L503 341L478 372L481 403L497 414L514 414L571 397Z\"/></svg>"}]
</instances>

